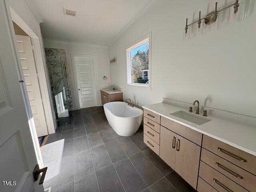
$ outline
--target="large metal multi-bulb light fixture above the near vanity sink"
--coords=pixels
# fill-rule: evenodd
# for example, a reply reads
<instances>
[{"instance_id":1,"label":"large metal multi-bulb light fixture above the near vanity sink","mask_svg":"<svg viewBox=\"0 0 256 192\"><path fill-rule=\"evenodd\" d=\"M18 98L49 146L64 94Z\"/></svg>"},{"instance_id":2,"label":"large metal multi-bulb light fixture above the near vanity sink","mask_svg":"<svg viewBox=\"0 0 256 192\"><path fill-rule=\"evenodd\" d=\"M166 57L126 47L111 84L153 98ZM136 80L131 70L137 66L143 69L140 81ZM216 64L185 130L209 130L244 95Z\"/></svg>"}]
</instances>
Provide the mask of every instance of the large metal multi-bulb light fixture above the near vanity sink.
<instances>
[{"instance_id":1,"label":"large metal multi-bulb light fixture above the near vanity sink","mask_svg":"<svg viewBox=\"0 0 256 192\"><path fill-rule=\"evenodd\" d=\"M188 18L186 18L186 27L185 27L185 36L186 37L188 36L188 27L195 24L195 23L198 24L198 33L200 33L202 20L204 20L204 23L207 24L207 25L212 24L213 27L216 26L218 13L223 11L223 10L226 10L226 9L232 7L232 6L234 6L234 19L236 19L236 13L238 12L238 7L239 7L238 0L236 0L236 2L234 2L233 4L230 4L229 6L226 6L222 9L220 9L220 10L217 10L217 4L218 4L218 2L215 3L215 10L213 12L210 12L204 18L201 18L201 11L199 12L198 20L195 21L195 22L192 22L192 23L188 24Z\"/></svg>"}]
</instances>

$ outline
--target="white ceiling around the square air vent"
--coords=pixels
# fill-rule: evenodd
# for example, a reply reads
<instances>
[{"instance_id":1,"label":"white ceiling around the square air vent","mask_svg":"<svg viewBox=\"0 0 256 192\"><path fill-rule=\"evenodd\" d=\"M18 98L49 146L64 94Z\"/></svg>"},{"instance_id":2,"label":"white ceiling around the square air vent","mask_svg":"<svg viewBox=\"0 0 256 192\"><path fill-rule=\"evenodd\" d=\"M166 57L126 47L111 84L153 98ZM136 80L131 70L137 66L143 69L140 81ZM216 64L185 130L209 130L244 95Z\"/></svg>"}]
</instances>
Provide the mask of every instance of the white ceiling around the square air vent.
<instances>
[{"instance_id":1,"label":"white ceiling around the square air vent","mask_svg":"<svg viewBox=\"0 0 256 192\"><path fill-rule=\"evenodd\" d=\"M34 0L44 38L110 45L151 0ZM63 7L77 10L64 15Z\"/></svg>"}]
</instances>

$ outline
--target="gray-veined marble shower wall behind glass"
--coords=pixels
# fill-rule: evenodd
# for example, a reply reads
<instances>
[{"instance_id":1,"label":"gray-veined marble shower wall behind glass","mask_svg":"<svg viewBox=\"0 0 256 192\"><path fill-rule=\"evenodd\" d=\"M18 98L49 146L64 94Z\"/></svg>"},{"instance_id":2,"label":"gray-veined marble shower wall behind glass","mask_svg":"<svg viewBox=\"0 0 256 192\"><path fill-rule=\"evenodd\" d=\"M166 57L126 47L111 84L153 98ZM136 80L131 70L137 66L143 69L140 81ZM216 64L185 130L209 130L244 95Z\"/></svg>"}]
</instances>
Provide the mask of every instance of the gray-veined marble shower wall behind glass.
<instances>
[{"instance_id":1,"label":"gray-veined marble shower wall behind glass","mask_svg":"<svg viewBox=\"0 0 256 192\"><path fill-rule=\"evenodd\" d=\"M54 96L58 93L67 92L68 102L64 102L65 108L70 107L73 110L71 89L70 89L70 76L68 74L68 66L66 59L66 52L64 49L44 48L46 55L46 64L52 89L52 98L54 107L56 106ZM66 71L65 71L66 70ZM64 88L64 90L63 90ZM66 96L63 95L63 98ZM68 106L70 105L70 106Z\"/></svg>"}]
</instances>

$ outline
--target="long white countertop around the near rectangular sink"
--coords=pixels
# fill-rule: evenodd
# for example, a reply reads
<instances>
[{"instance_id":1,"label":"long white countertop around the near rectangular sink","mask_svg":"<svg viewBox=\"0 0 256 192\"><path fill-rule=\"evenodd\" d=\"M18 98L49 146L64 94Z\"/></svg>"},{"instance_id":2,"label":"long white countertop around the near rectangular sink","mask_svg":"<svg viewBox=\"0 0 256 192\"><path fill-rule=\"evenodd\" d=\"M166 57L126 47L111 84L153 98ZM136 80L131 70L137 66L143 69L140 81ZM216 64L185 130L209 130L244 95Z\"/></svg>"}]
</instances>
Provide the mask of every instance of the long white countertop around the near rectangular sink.
<instances>
[{"instance_id":1,"label":"long white countertop around the near rectangular sink","mask_svg":"<svg viewBox=\"0 0 256 192\"><path fill-rule=\"evenodd\" d=\"M142 108L150 110L160 116L178 122L202 134L206 134L212 138L256 156L256 127L254 126L240 124L238 122L233 122L210 115L208 115L206 118L211 119L211 121L202 125L197 125L187 120L170 115L170 113L180 110L188 112L188 108L182 108L167 103L156 103L142 106ZM193 112L193 114L195 114L195 112ZM202 113L198 114L198 116L204 117L202 116Z\"/></svg>"}]
</instances>

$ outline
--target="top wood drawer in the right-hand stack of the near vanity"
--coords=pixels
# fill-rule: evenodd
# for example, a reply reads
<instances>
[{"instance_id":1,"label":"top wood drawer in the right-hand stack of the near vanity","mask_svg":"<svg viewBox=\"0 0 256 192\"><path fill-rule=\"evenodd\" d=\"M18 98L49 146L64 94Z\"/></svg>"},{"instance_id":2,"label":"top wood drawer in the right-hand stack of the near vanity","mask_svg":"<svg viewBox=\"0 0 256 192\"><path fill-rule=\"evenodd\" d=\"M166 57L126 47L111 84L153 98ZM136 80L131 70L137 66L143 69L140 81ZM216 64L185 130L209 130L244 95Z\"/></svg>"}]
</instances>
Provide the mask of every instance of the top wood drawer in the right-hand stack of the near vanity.
<instances>
[{"instance_id":1,"label":"top wood drawer in the right-hand stack of the near vanity","mask_svg":"<svg viewBox=\"0 0 256 192\"><path fill-rule=\"evenodd\" d=\"M248 154L207 135L203 136L202 147L256 175L256 156Z\"/></svg>"}]
</instances>

